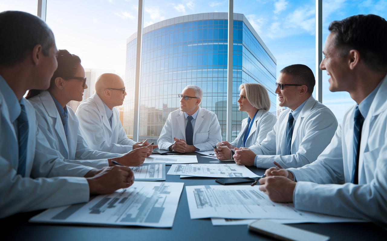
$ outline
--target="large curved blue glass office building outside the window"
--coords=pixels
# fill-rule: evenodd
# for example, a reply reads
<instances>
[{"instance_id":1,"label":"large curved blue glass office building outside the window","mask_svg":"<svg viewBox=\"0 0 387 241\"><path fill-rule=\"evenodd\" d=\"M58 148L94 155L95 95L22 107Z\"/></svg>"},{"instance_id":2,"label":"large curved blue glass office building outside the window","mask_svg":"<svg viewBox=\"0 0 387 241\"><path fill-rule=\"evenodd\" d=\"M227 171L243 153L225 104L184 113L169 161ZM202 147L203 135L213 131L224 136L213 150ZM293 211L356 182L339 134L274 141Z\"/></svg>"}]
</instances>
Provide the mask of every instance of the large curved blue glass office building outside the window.
<instances>
[{"instance_id":1,"label":"large curved blue glass office building outside the window","mask_svg":"<svg viewBox=\"0 0 387 241\"><path fill-rule=\"evenodd\" d=\"M179 108L178 94L188 84L203 90L202 108L214 111L226 139L227 13L200 13L163 20L144 28L140 80L139 139L157 142L169 113ZM247 113L238 111L238 87L266 87L276 113L276 59L243 14L233 21L232 139ZM137 33L127 39L127 96L123 127L133 136Z\"/></svg>"}]
</instances>

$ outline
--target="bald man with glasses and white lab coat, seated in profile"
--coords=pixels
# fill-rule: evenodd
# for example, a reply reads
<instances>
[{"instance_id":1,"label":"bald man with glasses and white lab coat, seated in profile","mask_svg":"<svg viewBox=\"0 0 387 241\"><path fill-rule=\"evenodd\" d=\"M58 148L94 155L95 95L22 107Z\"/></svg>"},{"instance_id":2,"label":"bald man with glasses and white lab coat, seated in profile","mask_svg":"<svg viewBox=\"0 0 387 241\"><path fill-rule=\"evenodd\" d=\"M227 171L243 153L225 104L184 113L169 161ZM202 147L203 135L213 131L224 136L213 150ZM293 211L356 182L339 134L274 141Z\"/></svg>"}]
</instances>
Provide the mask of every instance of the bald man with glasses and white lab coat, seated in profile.
<instances>
[{"instance_id":1,"label":"bald man with glasses and white lab coat, seated in profile","mask_svg":"<svg viewBox=\"0 0 387 241\"><path fill-rule=\"evenodd\" d=\"M127 153L149 145L148 142L136 143L126 136L120 121L120 112L114 108L122 105L126 96L121 77L111 73L101 74L95 89L96 93L75 111L80 132L87 145L93 150L111 153ZM148 148L153 150L152 145Z\"/></svg>"}]
</instances>

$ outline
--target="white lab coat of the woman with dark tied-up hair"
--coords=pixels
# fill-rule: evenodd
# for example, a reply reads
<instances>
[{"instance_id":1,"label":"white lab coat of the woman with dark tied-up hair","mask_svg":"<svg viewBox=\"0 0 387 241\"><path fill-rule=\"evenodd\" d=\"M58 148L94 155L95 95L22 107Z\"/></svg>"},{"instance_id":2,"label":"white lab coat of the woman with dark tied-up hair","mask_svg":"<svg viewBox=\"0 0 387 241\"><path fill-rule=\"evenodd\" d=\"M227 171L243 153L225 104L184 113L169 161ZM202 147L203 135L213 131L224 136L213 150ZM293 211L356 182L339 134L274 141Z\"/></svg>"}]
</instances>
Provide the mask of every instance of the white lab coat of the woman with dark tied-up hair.
<instances>
[{"instance_id":1,"label":"white lab coat of the woman with dark tied-up hair","mask_svg":"<svg viewBox=\"0 0 387 241\"><path fill-rule=\"evenodd\" d=\"M67 162L101 169L109 166L108 158L121 156L117 153L99 152L89 148L80 134L77 116L69 106L67 106L66 137L62 120L50 92L43 91L29 101L36 110L39 129L45 135L51 148L58 150L67 159Z\"/></svg>"}]
</instances>

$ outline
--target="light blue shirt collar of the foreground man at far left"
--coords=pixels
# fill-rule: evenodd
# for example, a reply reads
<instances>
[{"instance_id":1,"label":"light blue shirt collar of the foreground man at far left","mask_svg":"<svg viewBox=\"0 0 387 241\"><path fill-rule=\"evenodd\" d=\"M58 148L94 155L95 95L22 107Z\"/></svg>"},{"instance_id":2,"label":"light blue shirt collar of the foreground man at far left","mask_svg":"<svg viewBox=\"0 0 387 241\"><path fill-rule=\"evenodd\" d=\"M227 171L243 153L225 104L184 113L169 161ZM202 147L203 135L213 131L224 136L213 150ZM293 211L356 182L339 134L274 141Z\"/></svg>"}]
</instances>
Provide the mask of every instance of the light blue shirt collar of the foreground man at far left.
<instances>
[{"instance_id":1,"label":"light blue shirt collar of the foreground man at far left","mask_svg":"<svg viewBox=\"0 0 387 241\"><path fill-rule=\"evenodd\" d=\"M17 100L17 97L14 91L9 87L8 83L5 82L5 79L0 75L0 92L4 96L5 103L7 103L8 113L11 123L14 123L17 117L21 113L21 104L24 104L23 99L21 98L20 102Z\"/></svg>"}]
</instances>

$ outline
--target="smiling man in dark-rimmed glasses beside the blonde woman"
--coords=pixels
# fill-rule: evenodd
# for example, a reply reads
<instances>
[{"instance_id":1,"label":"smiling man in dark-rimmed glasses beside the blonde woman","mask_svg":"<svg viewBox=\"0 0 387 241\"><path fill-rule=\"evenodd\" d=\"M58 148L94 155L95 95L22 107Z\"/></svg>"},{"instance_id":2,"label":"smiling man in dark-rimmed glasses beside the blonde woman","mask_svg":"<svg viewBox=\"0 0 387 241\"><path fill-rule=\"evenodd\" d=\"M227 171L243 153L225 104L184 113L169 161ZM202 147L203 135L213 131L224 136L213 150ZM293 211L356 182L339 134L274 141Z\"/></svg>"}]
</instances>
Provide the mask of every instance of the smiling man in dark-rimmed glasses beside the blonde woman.
<instances>
[{"instance_id":1,"label":"smiling man in dark-rimmed glasses beside the blonde woman","mask_svg":"<svg viewBox=\"0 0 387 241\"><path fill-rule=\"evenodd\" d=\"M303 64L284 67L276 84L279 106L289 109L278 116L261 143L236 149L234 160L238 164L269 168L276 161L284 168L302 167L314 162L332 140L337 120L329 108L313 98L312 70Z\"/></svg>"}]
</instances>

